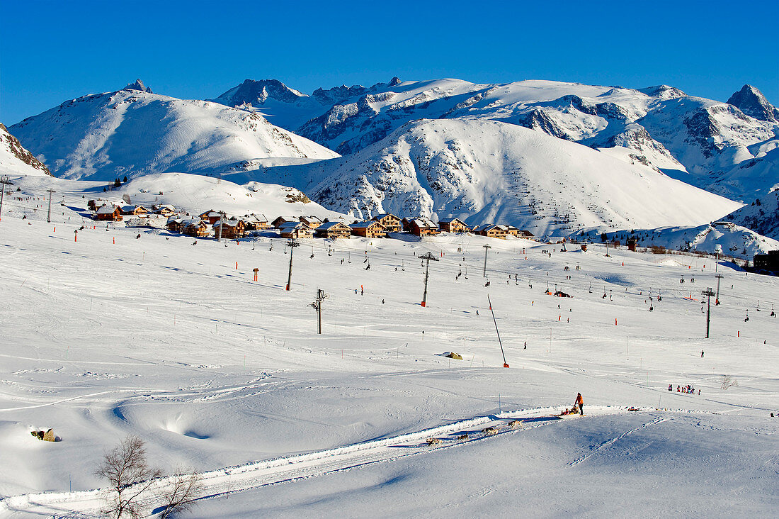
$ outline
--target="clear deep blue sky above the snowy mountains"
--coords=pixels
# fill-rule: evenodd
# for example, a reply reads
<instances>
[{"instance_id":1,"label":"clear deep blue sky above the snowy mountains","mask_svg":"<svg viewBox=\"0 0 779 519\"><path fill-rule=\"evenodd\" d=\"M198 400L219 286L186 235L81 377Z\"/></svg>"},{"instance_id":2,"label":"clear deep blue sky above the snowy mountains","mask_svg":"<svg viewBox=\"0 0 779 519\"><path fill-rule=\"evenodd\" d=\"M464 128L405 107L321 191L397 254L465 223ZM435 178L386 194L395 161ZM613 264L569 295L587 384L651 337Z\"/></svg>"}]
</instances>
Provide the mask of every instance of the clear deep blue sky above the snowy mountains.
<instances>
[{"instance_id":1,"label":"clear deep blue sky above the snowy mountains","mask_svg":"<svg viewBox=\"0 0 779 519\"><path fill-rule=\"evenodd\" d=\"M779 105L779 2L0 0L0 122L141 78L214 98L246 78L316 87L457 77L647 87Z\"/></svg>"}]
</instances>

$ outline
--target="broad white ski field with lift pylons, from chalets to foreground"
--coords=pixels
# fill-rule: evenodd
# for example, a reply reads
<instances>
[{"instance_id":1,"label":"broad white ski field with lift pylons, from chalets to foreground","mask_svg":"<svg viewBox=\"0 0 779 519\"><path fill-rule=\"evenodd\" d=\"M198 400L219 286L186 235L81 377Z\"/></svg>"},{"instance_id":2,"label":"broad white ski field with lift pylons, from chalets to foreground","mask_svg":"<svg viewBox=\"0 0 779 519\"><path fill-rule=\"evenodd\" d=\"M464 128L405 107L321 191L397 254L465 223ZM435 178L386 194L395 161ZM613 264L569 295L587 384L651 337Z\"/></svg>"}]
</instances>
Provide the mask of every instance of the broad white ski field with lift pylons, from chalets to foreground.
<instances>
[{"instance_id":1,"label":"broad white ski field with lift pylons, from chalets to foreground","mask_svg":"<svg viewBox=\"0 0 779 519\"><path fill-rule=\"evenodd\" d=\"M2 517L100 517L94 470L127 435L153 465L203 474L187 517L777 512L776 278L444 235L301 240L286 291L286 240L90 222L94 187L78 182L58 183L49 223L41 180L14 181L0 220ZM421 307L426 252L439 261ZM584 416L555 418L577 392ZM61 441L30 435L48 428Z\"/></svg>"}]
</instances>

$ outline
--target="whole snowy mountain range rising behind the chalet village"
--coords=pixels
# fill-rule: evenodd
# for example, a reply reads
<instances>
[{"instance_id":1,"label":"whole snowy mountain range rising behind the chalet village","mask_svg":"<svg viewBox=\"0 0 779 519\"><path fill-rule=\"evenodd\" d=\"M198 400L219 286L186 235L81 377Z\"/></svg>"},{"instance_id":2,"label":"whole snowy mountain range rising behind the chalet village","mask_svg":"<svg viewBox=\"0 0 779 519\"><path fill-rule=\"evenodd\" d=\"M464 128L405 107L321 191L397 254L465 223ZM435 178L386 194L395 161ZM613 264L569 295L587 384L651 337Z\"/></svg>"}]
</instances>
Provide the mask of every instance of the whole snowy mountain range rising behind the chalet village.
<instances>
[{"instance_id":1,"label":"whole snowy mountain range rising behind the chalet village","mask_svg":"<svg viewBox=\"0 0 779 519\"><path fill-rule=\"evenodd\" d=\"M311 95L245 80L212 101L153 94L136 81L10 130L65 178L232 175L291 186L356 216L458 216L570 233L735 214L741 204L702 190L752 203L779 187L777 121L749 85L722 103L665 85L395 77Z\"/></svg>"}]
</instances>

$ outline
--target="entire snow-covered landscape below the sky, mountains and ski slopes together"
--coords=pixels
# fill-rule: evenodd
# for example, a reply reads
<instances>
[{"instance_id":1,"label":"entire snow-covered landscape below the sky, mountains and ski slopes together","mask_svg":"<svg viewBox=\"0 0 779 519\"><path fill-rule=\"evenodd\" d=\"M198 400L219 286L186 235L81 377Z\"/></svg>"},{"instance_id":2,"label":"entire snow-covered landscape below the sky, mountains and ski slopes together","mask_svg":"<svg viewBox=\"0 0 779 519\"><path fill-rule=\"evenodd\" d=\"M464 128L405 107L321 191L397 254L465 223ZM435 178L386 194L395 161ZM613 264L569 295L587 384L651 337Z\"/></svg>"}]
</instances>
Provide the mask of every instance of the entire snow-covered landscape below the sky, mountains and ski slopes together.
<instances>
[{"instance_id":1,"label":"entire snow-covered landscape below the sky, mountains and ski slopes together","mask_svg":"<svg viewBox=\"0 0 779 519\"><path fill-rule=\"evenodd\" d=\"M743 265L779 250L777 119L749 85L393 78L0 126L0 517L104 517L129 436L165 474L139 517L182 468L176 517L776 517L779 278ZM95 199L538 240L290 247Z\"/></svg>"}]
</instances>

